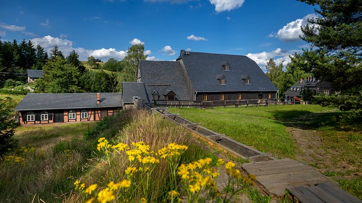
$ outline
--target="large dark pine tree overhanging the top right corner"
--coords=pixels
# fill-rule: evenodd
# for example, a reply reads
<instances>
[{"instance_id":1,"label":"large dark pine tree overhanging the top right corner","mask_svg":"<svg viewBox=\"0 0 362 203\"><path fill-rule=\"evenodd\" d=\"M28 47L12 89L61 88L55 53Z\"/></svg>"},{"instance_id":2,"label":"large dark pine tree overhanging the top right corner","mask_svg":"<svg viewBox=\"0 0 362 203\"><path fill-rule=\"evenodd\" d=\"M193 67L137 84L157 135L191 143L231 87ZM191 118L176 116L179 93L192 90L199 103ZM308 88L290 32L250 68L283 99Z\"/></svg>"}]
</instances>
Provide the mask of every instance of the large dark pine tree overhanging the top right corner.
<instances>
[{"instance_id":1,"label":"large dark pine tree overhanging the top right corner","mask_svg":"<svg viewBox=\"0 0 362 203\"><path fill-rule=\"evenodd\" d=\"M296 54L292 63L339 89L362 90L362 1L299 0L315 6L321 17L302 27L302 39L313 48Z\"/></svg>"}]
</instances>

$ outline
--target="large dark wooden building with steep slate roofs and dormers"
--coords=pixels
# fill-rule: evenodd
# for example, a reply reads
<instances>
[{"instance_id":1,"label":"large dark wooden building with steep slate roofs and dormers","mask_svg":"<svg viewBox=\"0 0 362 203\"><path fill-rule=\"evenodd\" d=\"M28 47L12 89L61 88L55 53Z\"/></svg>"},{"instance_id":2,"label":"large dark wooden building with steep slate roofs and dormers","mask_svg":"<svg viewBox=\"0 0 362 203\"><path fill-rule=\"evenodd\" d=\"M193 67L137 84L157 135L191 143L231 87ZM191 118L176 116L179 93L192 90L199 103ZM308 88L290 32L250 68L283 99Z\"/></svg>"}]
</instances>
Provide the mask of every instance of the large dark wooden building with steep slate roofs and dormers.
<instances>
[{"instance_id":1,"label":"large dark wooden building with steep slate roofs and dormers","mask_svg":"<svg viewBox=\"0 0 362 203\"><path fill-rule=\"evenodd\" d=\"M123 103L154 100L276 98L278 89L247 56L181 50L176 61L141 60L137 82L123 84Z\"/></svg>"}]
</instances>

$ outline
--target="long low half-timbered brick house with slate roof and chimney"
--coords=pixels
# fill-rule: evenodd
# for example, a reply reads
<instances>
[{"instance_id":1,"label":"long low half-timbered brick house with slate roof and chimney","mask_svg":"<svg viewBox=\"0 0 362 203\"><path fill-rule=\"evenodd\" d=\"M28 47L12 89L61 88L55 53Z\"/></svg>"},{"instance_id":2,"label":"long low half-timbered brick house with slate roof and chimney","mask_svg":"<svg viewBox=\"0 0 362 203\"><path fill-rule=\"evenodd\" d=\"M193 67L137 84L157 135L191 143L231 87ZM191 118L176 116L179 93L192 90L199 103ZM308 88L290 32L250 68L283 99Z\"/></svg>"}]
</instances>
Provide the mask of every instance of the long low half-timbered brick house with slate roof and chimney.
<instances>
[{"instance_id":1,"label":"long low half-timbered brick house with slate roof and chimney","mask_svg":"<svg viewBox=\"0 0 362 203\"><path fill-rule=\"evenodd\" d=\"M19 125L30 125L99 121L122 107L122 93L29 93L14 110Z\"/></svg>"}]
</instances>

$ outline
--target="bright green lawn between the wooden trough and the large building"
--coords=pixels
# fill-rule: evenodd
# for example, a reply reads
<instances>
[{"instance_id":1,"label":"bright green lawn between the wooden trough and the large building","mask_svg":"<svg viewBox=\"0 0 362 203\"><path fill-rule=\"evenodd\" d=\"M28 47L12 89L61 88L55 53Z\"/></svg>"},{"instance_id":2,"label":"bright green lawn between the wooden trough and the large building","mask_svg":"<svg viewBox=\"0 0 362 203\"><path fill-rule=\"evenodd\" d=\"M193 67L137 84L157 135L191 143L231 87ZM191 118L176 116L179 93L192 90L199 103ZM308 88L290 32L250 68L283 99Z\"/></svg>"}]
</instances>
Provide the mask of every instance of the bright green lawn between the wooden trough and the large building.
<instances>
[{"instance_id":1,"label":"bright green lawn between the wooden trough and the large building","mask_svg":"<svg viewBox=\"0 0 362 203\"><path fill-rule=\"evenodd\" d=\"M293 158L296 145L282 120L327 110L317 105L269 106L251 108L178 109L184 118L211 130L226 134L235 141L279 157Z\"/></svg>"}]
</instances>

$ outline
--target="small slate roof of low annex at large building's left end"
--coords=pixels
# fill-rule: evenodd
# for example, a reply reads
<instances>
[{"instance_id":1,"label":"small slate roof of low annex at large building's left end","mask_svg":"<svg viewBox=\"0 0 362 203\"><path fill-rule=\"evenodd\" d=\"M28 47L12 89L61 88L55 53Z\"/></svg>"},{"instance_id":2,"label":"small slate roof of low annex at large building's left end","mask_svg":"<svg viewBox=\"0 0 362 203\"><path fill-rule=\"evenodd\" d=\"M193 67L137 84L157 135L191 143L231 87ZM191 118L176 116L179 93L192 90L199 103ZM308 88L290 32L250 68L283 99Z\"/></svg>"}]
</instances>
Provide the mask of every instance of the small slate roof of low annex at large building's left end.
<instances>
[{"instance_id":1,"label":"small slate roof of low annex at large building's left end","mask_svg":"<svg viewBox=\"0 0 362 203\"><path fill-rule=\"evenodd\" d=\"M123 82L122 98L123 103L133 103L133 96L148 101L145 84L143 82Z\"/></svg>"}]
</instances>

